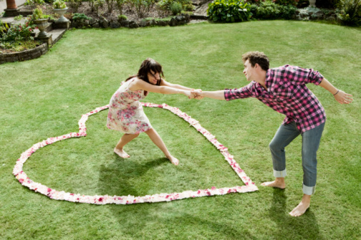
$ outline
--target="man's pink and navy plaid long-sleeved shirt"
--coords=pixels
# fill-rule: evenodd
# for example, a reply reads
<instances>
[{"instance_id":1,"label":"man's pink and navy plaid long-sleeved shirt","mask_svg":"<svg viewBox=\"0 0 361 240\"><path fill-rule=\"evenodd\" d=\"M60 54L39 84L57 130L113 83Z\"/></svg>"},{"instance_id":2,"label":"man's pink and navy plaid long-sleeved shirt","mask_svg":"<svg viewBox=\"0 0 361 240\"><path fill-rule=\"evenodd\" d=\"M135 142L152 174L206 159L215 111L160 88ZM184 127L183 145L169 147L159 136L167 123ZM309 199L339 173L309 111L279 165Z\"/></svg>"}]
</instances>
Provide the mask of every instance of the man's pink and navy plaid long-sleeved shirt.
<instances>
[{"instance_id":1,"label":"man's pink and navy plaid long-sleeved shirt","mask_svg":"<svg viewBox=\"0 0 361 240\"><path fill-rule=\"evenodd\" d=\"M319 85L323 76L312 69L297 66L280 66L268 69L265 85L252 81L243 88L225 89L225 100L257 98L278 113L286 115L282 124L296 122L298 130L305 132L326 121L325 110L306 83Z\"/></svg>"}]
</instances>

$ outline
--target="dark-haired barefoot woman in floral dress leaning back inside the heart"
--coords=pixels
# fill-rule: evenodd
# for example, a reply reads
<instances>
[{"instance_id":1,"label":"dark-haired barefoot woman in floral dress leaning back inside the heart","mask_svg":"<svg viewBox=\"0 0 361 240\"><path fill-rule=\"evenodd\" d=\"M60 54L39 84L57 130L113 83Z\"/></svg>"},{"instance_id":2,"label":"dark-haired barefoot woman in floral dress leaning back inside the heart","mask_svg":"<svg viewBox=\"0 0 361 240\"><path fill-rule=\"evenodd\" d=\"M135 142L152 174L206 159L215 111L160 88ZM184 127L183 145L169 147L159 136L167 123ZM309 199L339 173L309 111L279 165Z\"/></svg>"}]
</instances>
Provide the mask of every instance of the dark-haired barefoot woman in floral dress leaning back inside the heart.
<instances>
[{"instance_id":1,"label":"dark-haired barefoot woman in floral dress leaning back inside the heart","mask_svg":"<svg viewBox=\"0 0 361 240\"><path fill-rule=\"evenodd\" d=\"M109 113L106 126L112 130L124 132L114 148L119 157L130 157L124 152L123 147L138 137L139 133L146 132L154 144L159 147L173 165L179 161L173 157L164 144L158 132L149 122L139 100L145 98L148 92L163 94L184 94L190 98L190 90L182 85L171 84L163 78L162 66L152 58L147 58L141 64L138 74L129 77L121 87L113 94L109 103Z\"/></svg>"}]
</instances>

